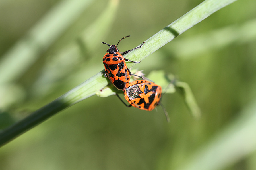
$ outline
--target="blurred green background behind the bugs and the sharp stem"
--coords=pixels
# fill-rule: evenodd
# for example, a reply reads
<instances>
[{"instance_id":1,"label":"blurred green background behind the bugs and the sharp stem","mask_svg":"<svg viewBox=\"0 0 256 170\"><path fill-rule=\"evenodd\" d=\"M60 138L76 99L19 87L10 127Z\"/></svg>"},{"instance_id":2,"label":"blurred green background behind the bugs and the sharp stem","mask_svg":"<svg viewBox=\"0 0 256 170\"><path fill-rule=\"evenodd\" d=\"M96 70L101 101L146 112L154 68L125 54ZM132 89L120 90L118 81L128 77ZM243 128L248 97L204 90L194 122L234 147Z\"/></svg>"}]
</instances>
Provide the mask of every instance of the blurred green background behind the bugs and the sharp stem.
<instances>
[{"instance_id":1,"label":"blurred green background behind the bugs and the sharp stem","mask_svg":"<svg viewBox=\"0 0 256 170\"><path fill-rule=\"evenodd\" d=\"M0 56L19 40L33 39L28 32L63 2L1 0ZM78 5L81 12L68 25L59 25L65 29L55 38L49 36L44 47L34 46L36 57L31 64L1 87L0 128L104 69L107 46L102 41L116 44L131 35L119 44L119 50L134 48L201 2L113 0L118 6L110 8L108 1L91 0L84 7ZM69 11L61 9L69 16ZM256 169L256 129L250 126L256 124L256 110L251 109L256 99L255 18L256 1L236 1L133 67L146 75L161 69L187 82L201 108L201 119L191 116L179 93L162 98L170 124L161 107L148 112L127 108L115 96L92 96L0 148L0 169L148 170L193 169L193 165L203 170ZM227 142L225 137L247 125L244 129L249 129L246 132L253 139L245 135L240 141L238 135L238 140L228 142L230 148L217 152ZM233 144L241 146L240 152L233 153ZM216 150L208 162L201 159L207 150ZM215 166L204 167L210 163Z\"/></svg>"}]
</instances>

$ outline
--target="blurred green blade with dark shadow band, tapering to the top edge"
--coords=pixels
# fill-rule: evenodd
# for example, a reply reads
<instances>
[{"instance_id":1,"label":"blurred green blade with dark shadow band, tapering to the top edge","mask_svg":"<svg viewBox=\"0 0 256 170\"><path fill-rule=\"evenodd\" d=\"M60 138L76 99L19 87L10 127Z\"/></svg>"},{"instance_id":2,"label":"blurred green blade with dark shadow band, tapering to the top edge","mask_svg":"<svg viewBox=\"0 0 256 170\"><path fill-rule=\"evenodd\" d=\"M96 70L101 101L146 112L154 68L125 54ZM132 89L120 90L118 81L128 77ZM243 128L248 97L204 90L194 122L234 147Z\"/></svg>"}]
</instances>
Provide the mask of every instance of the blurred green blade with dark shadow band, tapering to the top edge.
<instances>
[{"instance_id":1,"label":"blurred green blade with dark shadow band, tapering to the top edge","mask_svg":"<svg viewBox=\"0 0 256 170\"><path fill-rule=\"evenodd\" d=\"M111 31L118 6L119 0L110 0L106 8L84 29L76 41L72 41L61 48L55 53L54 57L48 59L48 62L42 68L41 74L38 75L32 85L31 91L35 98L51 93L59 80L79 67L81 60L90 59L88 57L90 53L98 48L97 44ZM72 60L70 56L72 56ZM73 83L77 85L74 81Z\"/></svg>"}]
</instances>

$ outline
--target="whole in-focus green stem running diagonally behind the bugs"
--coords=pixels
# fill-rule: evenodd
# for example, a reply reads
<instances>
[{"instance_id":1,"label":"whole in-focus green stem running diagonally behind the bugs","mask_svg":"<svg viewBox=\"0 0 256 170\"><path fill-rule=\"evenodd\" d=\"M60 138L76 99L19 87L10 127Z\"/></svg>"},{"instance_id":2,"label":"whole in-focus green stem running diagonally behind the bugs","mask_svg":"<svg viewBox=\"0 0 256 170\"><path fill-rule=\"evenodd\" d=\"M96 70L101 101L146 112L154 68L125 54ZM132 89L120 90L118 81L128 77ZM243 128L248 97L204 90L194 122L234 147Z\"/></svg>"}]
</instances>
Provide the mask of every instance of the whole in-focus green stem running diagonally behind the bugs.
<instances>
[{"instance_id":1,"label":"whole in-focus green stem running diagonally behind the bugs","mask_svg":"<svg viewBox=\"0 0 256 170\"><path fill-rule=\"evenodd\" d=\"M142 48L134 50L125 55L126 58L129 58L133 61L140 61L143 58L146 58L152 52L164 46L164 44L171 41L193 25L197 24L198 22L207 18L220 8L223 8L234 1L236 0L204 1L197 7L189 11L187 14L183 15L181 18L177 19L172 24L168 25L167 27L153 35L150 39L146 41ZM133 65L135 64L127 62L128 67L131 67ZM20 122L17 122L16 124L2 131L0 133L0 146L2 146L4 143L7 143L8 141L11 141L28 129L34 127L36 124L43 122L57 112L66 109L67 107L70 107L71 105L83 99L95 95L98 90L102 89L107 84L107 79L104 78L101 73L96 74L95 76L86 80L84 83L80 84L76 88L59 97L52 103L49 103L48 105L35 111L24 120L21 120Z\"/></svg>"}]
</instances>

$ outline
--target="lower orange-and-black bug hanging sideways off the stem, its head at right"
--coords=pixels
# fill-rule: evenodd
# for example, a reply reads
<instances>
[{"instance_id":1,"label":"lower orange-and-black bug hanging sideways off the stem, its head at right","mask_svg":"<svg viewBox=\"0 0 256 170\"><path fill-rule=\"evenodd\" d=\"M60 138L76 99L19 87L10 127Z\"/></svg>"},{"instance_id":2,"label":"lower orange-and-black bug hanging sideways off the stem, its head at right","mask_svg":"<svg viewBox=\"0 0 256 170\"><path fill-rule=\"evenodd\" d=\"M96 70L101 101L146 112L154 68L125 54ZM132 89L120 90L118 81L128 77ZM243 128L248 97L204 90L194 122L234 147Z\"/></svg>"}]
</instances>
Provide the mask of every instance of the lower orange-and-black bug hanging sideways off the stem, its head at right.
<instances>
[{"instance_id":1,"label":"lower orange-and-black bug hanging sideways off the stem, its head at right","mask_svg":"<svg viewBox=\"0 0 256 170\"><path fill-rule=\"evenodd\" d=\"M131 82L125 89L125 99L134 107L152 111L160 104L161 86L146 80Z\"/></svg>"}]
</instances>

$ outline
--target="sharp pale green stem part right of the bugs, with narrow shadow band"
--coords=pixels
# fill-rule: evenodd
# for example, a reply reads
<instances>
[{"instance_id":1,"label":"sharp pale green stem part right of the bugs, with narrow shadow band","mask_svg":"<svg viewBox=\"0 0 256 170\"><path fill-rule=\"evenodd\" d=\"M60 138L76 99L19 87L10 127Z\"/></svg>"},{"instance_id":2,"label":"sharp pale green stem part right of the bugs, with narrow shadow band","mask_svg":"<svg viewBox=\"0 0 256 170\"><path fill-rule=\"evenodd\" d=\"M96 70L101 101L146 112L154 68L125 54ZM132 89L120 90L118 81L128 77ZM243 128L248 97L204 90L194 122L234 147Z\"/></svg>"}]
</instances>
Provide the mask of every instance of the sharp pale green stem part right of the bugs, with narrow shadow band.
<instances>
[{"instance_id":1,"label":"sharp pale green stem part right of the bugs, with narrow shadow band","mask_svg":"<svg viewBox=\"0 0 256 170\"><path fill-rule=\"evenodd\" d=\"M217 10L235 2L236 0L205 0L197 7L193 8L185 15L166 26L158 33L146 40L145 44L139 50L134 50L125 55L125 58L132 61L141 61L172 39L201 22ZM132 56L132 57L131 57ZM127 67L132 67L135 63L127 63Z\"/></svg>"}]
</instances>

